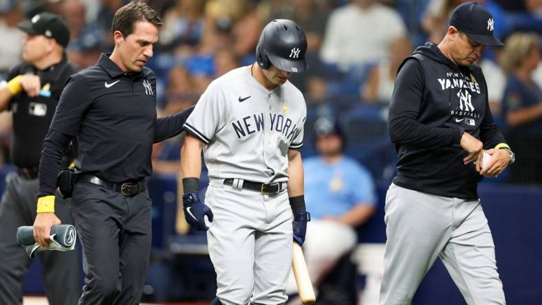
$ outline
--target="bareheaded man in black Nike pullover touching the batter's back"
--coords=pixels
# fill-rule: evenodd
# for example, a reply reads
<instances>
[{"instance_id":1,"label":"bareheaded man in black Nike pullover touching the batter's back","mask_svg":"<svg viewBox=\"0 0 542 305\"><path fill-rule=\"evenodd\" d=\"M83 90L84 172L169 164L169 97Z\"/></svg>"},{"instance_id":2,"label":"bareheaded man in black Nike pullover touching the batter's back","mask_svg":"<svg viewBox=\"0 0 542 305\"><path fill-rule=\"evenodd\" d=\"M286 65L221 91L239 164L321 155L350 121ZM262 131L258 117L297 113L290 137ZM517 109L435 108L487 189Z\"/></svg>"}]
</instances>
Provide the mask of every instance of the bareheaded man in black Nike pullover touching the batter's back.
<instances>
[{"instance_id":1,"label":"bareheaded man in black Nike pullover touching the batter's back","mask_svg":"<svg viewBox=\"0 0 542 305\"><path fill-rule=\"evenodd\" d=\"M74 221L85 258L79 304L139 304L151 252L154 142L173 137L191 109L156 119L156 82L144 67L158 41L160 17L133 1L119 8L111 30L115 47L71 76L43 143L34 236L46 245L56 218L52 194L61 151L74 137L78 170Z\"/></svg>"}]
</instances>

